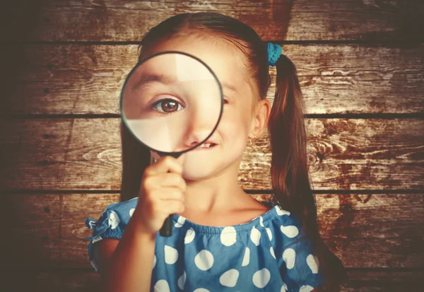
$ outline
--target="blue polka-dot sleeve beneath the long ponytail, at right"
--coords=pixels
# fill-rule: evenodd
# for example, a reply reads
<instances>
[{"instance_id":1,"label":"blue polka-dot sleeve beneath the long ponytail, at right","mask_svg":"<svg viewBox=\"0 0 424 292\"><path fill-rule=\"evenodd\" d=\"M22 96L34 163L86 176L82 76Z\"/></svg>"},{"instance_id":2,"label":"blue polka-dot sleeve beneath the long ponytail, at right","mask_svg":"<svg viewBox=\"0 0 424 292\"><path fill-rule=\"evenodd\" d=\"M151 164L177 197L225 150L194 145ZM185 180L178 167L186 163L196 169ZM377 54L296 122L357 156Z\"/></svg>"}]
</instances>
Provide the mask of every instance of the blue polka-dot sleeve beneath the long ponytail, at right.
<instances>
[{"instance_id":1,"label":"blue polka-dot sleeve beneath the long ponytail, at right","mask_svg":"<svg viewBox=\"0 0 424 292\"><path fill-rule=\"evenodd\" d=\"M276 254L280 259L278 266L285 291L312 291L324 284L312 241L302 232L300 222L293 214L280 206L276 208L281 218L280 232L276 232L276 245L279 246Z\"/></svg>"}]
</instances>

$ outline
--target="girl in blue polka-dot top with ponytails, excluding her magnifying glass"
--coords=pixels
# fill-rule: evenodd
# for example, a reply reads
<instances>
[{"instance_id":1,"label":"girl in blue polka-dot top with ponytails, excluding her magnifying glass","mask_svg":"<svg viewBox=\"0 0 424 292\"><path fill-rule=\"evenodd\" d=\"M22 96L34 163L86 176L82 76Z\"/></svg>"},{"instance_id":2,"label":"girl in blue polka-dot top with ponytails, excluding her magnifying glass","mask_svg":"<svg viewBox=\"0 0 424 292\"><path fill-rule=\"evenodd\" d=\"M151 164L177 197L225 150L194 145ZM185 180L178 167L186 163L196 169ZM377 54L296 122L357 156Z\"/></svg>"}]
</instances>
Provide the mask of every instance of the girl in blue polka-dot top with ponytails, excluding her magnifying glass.
<instances>
[{"instance_id":1,"label":"girl in blue polka-dot top with ponytails, excluding her magnifying glass","mask_svg":"<svg viewBox=\"0 0 424 292\"><path fill-rule=\"evenodd\" d=\"M293 63L280 46L219 13L168 18L143 37L139 59L167 50L199 57L227 85L223 116L212 147L178 159L150 153L121 124L120 202L107 206L98 221L86 220L93 229L88 255L102 291L336 290L346 274L319 236ZM271 108L266 93L274 65ZM237 182L246 145L266 129L271 206ZM158 159L152 165L151 155ZM172 236L162 237L158 230L170 214Z\"/></svg>"}]
</instances>

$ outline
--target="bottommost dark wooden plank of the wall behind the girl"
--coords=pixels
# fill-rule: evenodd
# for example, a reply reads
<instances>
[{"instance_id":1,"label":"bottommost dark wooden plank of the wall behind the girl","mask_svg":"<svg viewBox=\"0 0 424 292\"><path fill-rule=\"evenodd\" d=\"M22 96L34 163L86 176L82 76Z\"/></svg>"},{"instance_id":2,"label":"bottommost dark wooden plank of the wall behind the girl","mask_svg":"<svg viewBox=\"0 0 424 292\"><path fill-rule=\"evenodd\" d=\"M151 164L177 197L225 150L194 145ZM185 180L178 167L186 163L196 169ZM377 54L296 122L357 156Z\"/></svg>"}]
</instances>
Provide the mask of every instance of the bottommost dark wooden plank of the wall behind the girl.
<instances>
[{"instance_id":1,"label":"bottommost dark wooden plank of the wall behind the girl","mask_svg":"<svg viewBox=\"0 0 424 292\"><path fill-rule=\"evenodd\" d=\"M370 291L419 291L423 287L423 271L375 271L373 269L347 269L348 282L341 287L341 292ZM100 275L88 269L57 270L6 270L2 287L8 292L92 292L99 291ZM22 281L25 279L25 281Z\"/></svg>"}]
</instances>

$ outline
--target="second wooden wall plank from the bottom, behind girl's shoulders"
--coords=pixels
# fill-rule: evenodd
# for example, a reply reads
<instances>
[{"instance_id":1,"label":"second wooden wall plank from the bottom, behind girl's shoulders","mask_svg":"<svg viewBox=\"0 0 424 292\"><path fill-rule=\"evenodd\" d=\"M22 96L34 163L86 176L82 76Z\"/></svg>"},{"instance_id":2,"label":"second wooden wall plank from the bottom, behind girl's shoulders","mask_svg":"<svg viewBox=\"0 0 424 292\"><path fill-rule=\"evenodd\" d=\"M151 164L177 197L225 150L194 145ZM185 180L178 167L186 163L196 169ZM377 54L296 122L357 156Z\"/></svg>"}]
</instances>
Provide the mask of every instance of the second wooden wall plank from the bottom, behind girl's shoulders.
<instances>
[{"instance_id":1,"label":"second wooden wall plank from the bottom, behind girl's shoulders","mask_svg":"<svg viewBox=\"0 0 424 292\"><path fill-rule=\"evenodd\" d=\"M269 199L267 194L252 195ZM320 233L346 267L421 267L424 194L316 194ZM89 268L88 216L119 194L3 194L8 241L2 268ZM58 208L58 202L60 208ZM394 216L396 214L396 216ZM60 218L58 220L58 218ZM59 228L58 228L59 223ZM28 243L31 243L28 246ZM5 266L7 265L7 266Z\"/></svg>"}]
</instances>

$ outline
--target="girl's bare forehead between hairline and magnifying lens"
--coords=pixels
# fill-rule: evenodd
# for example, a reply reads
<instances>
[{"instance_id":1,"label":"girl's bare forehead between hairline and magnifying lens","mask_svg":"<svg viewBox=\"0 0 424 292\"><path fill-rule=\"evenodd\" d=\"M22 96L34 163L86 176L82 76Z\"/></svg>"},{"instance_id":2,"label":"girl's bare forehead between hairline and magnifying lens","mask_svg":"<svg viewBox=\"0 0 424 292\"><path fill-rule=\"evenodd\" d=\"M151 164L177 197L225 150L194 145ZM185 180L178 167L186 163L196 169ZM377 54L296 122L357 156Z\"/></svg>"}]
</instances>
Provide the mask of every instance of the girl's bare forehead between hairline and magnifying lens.
<instances>
[{"instance_id":1,"label":"girl's bare forehead between hairline and magnifying lens","mask_svg":"<svg viewBox=\"0 0 424 292\"><path fill-rule=\"evenodd\" d=\"M234 90L237 93L247 94L249 88L247 68L242 53L233 45L214 40L213 37L208 39L191 36L173 37L155 45L149 54L170 50L192 54L206 63L218 77L224 94L226 91Z\"/></svg>"}]
</instances>

